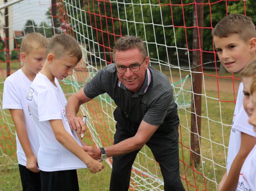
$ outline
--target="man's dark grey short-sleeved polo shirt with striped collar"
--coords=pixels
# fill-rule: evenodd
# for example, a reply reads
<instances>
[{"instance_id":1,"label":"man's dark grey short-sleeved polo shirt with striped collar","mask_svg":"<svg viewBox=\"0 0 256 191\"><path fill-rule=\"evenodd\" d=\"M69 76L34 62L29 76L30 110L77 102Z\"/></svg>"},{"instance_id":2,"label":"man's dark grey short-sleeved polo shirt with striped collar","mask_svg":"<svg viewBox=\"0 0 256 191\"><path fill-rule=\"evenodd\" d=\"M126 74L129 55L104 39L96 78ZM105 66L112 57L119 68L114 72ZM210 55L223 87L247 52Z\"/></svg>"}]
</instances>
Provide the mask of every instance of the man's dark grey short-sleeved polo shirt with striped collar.
<instances>
[{"instance_id":1,"label":"man's dark grey short-sleeved polo shirt with striped collar","mask_svg":"<svg viewBox=\"0 0 256 191\"><path fill-rule=\"evenodd\" d=\"M173 123L174 116L177 118L174 123L179 122L173 89L165 74L149 66L141 89L133 93L118 80L114 66L114 63L109 64L97 72L84 87L86 96L94 98L106 92L123 113L123 118L137 126L142 120L152 125ZM121 122L118 118L115 120Z\"/></svg>"}]
</instances>

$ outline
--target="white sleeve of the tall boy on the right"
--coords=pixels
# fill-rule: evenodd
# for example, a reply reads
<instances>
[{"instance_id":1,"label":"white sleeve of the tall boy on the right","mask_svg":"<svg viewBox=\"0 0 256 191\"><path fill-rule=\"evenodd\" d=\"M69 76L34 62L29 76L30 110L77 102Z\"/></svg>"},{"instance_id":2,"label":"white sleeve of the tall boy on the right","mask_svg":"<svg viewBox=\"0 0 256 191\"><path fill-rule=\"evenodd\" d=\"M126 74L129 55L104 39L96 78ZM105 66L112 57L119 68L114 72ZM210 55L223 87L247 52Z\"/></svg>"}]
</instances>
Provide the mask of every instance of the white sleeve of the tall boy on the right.
<instances>
[{"instance_id":1,"label":"white sleeve of the tall boy on the right","mask_svg":"<svg viewBox=\"0 0 256 191\"><path fill-rule=\"evenodd\" d=\"M254 131L253 126L251 124L249 124L249 122L248 122L249 117L248 117L247 113L245 112L243 106L241 107L236 118L237 118L237 120L235 120L232 128L234 128L240 132L249 134L251 136L256 136L256 132Z\"/></svg>"}]
</instances>

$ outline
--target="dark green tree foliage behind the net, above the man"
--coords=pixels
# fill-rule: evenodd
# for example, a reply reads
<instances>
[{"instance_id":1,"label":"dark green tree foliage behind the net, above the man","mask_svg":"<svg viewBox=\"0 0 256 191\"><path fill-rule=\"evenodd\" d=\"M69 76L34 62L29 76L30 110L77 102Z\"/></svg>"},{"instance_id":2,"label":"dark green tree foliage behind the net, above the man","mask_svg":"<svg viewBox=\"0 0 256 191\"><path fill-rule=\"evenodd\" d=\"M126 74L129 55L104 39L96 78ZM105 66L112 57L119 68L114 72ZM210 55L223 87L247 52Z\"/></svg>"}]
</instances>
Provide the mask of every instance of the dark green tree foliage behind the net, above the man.
<instances>
[{"instance_id":1,"label":"dark green tree foliage behind the net, above the man","mask_svg":"<svg viewBox=\"0 0 256 191\"><path fill-rule=\"evenodd\" d=\"M213 52L212 28L227 14L244 14L244 3L246 15L252 16L254 20L255 5L252 1L216 0L216 3L205 3L203 26L199 27L193 21L195 0L123 2L89 0L88 3L81 3L80 0L73 0L70 4L60 3L57 11L58 27L64 32L73 32L76 39L85 43L90 52L105 52L99 53L98 56L109 62L112 59L109 52L112 51L115 40L126 34L141 36L147 42L147 50L151 57L167 61L179 59L177 54L192 54L193 40L199 40L194 39L194 28L203 30L203 44L200 47L203 53ZM65 10L65 14L61 9ZM50 9L46 15L51 18ZM27 28L29 29L29 26ZM47 27L43 28L45 30ZM40 32L46 33L42 29ZM213 53L211 54L213 56Z\"/></svg>"}]
</instances>

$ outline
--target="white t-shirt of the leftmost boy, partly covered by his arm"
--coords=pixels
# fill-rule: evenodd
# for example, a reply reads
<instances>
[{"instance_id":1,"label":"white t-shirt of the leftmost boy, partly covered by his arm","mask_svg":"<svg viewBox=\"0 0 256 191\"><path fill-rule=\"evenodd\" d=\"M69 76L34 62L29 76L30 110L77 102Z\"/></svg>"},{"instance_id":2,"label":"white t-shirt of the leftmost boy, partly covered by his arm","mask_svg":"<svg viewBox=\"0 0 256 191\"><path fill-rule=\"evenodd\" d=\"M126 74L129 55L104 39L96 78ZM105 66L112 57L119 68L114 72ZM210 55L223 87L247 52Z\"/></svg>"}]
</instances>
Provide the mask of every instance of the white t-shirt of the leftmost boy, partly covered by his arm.
<instances>
[{"instance_id":1,"label":"white t-shirt of the leftmost boy, partly covered by his arm","mask_svg":"<svg viewBox=\"0 0 256 191\"><path fill-rule=\"evenodd\" d=\"M23 109L26 129L31 144L31 148L37 156L39 149L38 133L36 123L31 115L30 107L27 102L28 89L31 85L29 78L23 73L22 69L17 70L6 78L3 93L3 109ZM16 133L17 158L18 163L26 166L27 158Z\"/></svg>"}]
</instances>

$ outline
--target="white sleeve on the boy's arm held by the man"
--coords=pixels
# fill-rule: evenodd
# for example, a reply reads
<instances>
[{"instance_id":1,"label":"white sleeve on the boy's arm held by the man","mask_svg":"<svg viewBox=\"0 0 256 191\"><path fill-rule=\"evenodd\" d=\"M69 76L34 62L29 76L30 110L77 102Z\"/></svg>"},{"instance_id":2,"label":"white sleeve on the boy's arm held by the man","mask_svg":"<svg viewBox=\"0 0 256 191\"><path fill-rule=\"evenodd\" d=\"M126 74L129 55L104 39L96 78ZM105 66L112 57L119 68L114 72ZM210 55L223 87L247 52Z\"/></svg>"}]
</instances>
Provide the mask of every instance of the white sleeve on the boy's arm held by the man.
<instances>
[{"instance_id":1,"label":"white sleeve on the boy's arm held by the man","mask_svg":"<svg viewBox=\"0 0 256 191\"><path fill-rule=\"evenodd\" d=\"M37 105L39 121L62 119L59 98L54 90L40 92L37 96Z\"/></svg>"}]
</instances>

